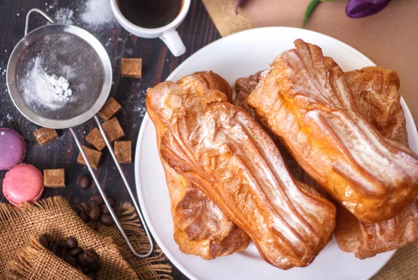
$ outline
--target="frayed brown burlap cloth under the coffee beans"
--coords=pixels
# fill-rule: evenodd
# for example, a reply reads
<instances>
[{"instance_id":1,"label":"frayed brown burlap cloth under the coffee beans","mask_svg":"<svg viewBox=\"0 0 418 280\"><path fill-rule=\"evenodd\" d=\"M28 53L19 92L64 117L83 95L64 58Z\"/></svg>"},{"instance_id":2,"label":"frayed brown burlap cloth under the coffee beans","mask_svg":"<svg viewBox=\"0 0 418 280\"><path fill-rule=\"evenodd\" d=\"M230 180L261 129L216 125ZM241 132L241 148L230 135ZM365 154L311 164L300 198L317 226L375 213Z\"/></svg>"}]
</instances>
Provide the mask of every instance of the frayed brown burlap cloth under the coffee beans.
<instances>
[{"instance_id":1,"label":"frayed brown burlap cloth under the coffee beans","mask_svg":"<svg viewBox=\"0 0 418 280\"><path fill-rule=\"evenodd\" d=\"M86 208L86 205L80 205ZM121 224L137 251L149 244L130 203L120 205ZM0 203L0 279L88 279L81 272L42 247L38 237L54 240L74 237L82 249L100 255L98 279L172 279L171 266L160 248L150 258L135 257L116 226L98 226L98 231L78 217L60 196L16 208Z\"/></svg>"}]
</instances>

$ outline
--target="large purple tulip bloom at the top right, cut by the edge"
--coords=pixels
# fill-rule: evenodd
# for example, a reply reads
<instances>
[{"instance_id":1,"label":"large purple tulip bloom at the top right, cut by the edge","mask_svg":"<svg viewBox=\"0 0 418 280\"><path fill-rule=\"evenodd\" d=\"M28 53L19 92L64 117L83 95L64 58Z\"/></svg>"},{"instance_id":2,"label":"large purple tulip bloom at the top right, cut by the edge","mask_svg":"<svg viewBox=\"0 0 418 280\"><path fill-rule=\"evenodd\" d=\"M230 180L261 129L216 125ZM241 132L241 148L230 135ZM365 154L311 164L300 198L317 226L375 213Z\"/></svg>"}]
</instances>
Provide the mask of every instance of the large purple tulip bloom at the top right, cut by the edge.
<instances>
[{"instance_id":1,"label":"large purple tulip bloom at the top right, cut by the edge","mask_svg":"<svg viewBox=\"0 0 418 280\"><path fill-rule=\"evenodd\" d=\"M386 8L390 1L392 0L348 0L346 14L351 18L374 15Z\"/></svg>"}]
</instances>

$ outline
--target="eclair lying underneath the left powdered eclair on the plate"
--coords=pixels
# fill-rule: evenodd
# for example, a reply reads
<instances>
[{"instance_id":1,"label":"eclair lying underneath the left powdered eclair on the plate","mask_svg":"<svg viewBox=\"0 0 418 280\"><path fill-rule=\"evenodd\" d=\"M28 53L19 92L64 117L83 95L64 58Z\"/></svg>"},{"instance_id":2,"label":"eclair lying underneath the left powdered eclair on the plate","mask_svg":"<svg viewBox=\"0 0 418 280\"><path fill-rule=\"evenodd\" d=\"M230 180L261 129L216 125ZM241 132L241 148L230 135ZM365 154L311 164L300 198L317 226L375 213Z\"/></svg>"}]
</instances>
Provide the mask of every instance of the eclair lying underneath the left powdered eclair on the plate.
<instances>
[{"instance_id":1,"label":"eclair lying underneath the left powdered eclair on the plate","mask_svg":"<svg viewBox=\"0 0 418 280\"><path fill-rule=\"evenodd\" d=\"M207 89L218 88L231 98L229 84L212 72L196 73L188 77L187 82ZM155 125L160 150L161 137L178 104L175 100L165 99L167 95L163 91L154 90L151 95L153 99L147 95L146 108ZM180 250L212 259L246 249L249 244L247 233L235 226L191 180L176 173L164 160L161 162L169 188L174 240Z\"/></svg>"}]
</instances>

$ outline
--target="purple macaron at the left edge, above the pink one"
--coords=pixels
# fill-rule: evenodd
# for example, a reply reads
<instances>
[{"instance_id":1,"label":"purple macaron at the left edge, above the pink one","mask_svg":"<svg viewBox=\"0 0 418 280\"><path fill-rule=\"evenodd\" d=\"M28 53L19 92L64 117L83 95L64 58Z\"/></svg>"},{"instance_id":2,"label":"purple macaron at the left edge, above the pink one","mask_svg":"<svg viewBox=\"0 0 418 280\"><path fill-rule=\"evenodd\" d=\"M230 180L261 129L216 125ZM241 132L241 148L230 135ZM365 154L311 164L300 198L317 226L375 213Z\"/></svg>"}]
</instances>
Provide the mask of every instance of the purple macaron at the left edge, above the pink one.
<instances>
[{"instance_id":1,"label":"purple macaron at the left edge, above the pink one","mask_svg":"<svg viewBox=\"0 0 418 280\"><path fill-rule=\"evenodd\" d=\"M23 137L15 130L0 127L0 170L9 170L20 164L26 153Z\"/></svg>"}]
</instances>

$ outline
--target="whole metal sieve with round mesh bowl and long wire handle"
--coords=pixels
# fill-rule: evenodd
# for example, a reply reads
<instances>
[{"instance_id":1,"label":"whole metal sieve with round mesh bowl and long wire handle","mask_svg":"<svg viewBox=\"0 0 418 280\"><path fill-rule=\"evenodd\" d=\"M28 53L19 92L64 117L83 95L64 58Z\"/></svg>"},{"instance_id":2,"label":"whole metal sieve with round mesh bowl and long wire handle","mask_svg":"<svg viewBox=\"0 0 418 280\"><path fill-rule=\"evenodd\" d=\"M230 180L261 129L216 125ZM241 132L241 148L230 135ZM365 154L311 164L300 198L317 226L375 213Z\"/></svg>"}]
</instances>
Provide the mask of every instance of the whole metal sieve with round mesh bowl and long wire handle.
<instances>
[{"instance_id":1,"label":"whole metal sieve with round mesh bowl and long wire handle","mask_svg":"<svg viewBox=\"0 0 418 280\"><path fill-rule=\"evenodd\" d=\"M31 13L43 15L51 24L38 27L28 33ZM106 102L112 81L112 70L106 50L91 33L77 26L56 24L42 10L32 9L26 15L24 38L13 49L7 66L7 85L10 98L17 109L26 118L42 127L54 129L68 128L77 143L80 153L88 166L95 185L98 187L104 203L109 209L116 226L121 231L131 251L139 258L146 258L153 252L153 241L142 217L139 205L130 189L129 182L116 160L114 150L104 133L103 127L96 114ZM45 102L45 91L37 86L38 79L43 73L62 75L68 79L73 95L67 102L63 100L48 100ZM95 119L98 128L106 142L107 148L114 159L119 173L121 173L127 192L130 194L134 207L141 219L146 235L150 242L147 254L138 254L127 237L106 195L95 176L88 161L82 144L79 142L72 127Z\"/></svg>"}]
</instances>

